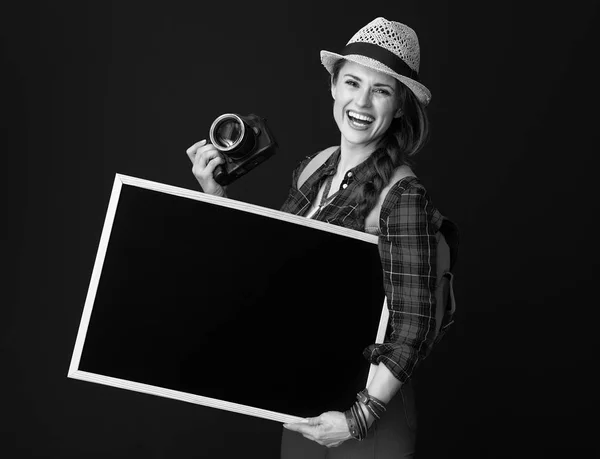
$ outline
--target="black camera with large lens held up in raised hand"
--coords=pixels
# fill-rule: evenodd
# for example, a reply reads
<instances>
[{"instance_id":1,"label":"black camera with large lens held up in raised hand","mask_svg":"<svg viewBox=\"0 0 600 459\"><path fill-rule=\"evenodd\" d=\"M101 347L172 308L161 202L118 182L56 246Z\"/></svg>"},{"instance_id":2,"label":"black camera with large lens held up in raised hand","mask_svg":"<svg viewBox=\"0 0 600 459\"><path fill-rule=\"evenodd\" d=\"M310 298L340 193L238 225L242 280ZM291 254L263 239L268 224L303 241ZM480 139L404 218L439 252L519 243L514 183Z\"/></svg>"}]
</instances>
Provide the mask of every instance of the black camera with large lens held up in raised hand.
<instances>
[{"instance_id":1,"label":"black camera with large lens held up in raised hand","mask_svg":"<svg viewBox=\"0 0 600 459\"><path fill-rule=\"evenodd\" d=\"M225 159L213 173L221 186L229 185L273 156L277 147L267 120L254 114L219 116L210 127L209 137Z\"/></svg>"}]
</instances>

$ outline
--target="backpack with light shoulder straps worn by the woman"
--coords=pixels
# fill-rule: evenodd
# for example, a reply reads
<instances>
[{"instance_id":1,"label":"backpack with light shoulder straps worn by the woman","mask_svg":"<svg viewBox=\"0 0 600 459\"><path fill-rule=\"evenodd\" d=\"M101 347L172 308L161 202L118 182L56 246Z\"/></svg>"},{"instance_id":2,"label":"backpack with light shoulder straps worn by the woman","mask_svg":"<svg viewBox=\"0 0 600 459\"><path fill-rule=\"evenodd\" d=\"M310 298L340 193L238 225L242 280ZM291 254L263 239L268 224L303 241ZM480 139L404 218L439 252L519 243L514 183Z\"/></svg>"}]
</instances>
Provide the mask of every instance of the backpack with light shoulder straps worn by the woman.
<instances>
[{"instance_id":1,"label":"backpack with light shoulder straps worn by the woman","mask_svg":"<svg viewBox=\"0 0 600 459\"><path fill-rule=\"evenodd\" d=\"M298 177L298 189L304 184L304 182L310 177L327 159L337 150L337 146L326 148L325 150L316 154L306 165L306 167L300 173ZM390 179L390 183L381 190L377 204L371 210L367 218L365 219L365 232L374 233L379 230L379 214L381 212L381 206L385 201L385 198L392 188L398 181L405 177L415 177L415 174L408 166L400 166L394 171L394 175ZM445 220L448 221L448 220ZM442 228L444 225L442 225ZM440 333L442 321L446 314L454 314L456 311L456 300L454 298L454 275L450 271L454 265L454 258L456 256L455 251L451 253L450 246L446 241L442 230L436 233L437 239L437 251L436 251L436 287L435 287L435 298L436 298L436 311L435 311L435 325L436 325L436 339L437 341L443 333ZM450 325L446 324L446 327Z\"/></svg>"}]
</instances>

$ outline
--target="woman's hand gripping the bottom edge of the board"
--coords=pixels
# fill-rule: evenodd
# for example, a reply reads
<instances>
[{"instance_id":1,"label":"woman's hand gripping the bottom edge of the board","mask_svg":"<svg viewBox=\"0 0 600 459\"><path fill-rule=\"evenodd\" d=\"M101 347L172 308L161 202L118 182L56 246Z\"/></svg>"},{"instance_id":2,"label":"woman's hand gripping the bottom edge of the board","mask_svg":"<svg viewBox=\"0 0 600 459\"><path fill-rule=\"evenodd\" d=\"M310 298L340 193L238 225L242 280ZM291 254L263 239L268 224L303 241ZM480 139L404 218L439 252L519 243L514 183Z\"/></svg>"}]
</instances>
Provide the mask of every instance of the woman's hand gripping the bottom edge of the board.
<instances>
[{"instance_id":1,"label":"woman's hand gripping the bottom edge of the board","mask_svg":"<svg viewBox=\"0 0 600 459\"><path fill-rule=\"evenodd\" d=\"M344 413L327 411L316 418L307 418L308 422L284 424L288 430L300 432L305 438L316 441L328 448L339 446L352 438Z\"/></svg>"}]
</instances>

